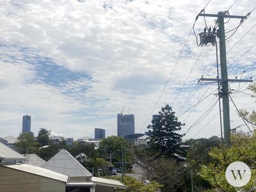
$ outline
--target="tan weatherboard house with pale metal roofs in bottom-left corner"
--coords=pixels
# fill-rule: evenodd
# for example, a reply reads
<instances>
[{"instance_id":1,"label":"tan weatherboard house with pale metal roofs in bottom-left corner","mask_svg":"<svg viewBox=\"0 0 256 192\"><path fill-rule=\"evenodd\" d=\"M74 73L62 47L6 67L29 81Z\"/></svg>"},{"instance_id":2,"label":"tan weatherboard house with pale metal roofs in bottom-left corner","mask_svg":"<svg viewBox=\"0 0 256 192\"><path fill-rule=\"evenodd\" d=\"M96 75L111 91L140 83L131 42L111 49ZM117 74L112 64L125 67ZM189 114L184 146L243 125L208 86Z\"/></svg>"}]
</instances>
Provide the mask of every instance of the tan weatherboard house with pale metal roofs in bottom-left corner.
<instances>
[{"instance_id":1,"label":"tan weatherboard house with pale metal roofs in bottom-left corner","mask_svg":"<svg viewBox=\"0 0 256 192\"><path fill-rule=\"evenodd\" d=\"M0 143L0 192L64 192L68 175L17 163L25 157Z\"/></svg>"}]
</instances>

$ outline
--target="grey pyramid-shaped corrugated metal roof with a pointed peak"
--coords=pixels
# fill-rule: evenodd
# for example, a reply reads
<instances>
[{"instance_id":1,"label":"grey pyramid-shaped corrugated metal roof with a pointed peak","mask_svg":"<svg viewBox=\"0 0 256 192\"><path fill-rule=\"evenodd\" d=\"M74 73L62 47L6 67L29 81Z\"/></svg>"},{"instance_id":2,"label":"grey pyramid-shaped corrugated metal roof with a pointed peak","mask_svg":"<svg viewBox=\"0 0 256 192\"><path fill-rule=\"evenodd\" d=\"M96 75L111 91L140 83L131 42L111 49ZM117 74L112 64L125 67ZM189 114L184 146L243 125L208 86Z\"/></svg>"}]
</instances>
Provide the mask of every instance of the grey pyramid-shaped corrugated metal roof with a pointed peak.
<instances>
[{"instance_id":1,"label":"grey pyramid-shaped corrugated metal roof with a pointed peak","mask_svg":"<svg viewBox=\"0 0 256 192\"><path fill-rule=\"evenodd\" d=\"M42 168L63 173L70 177L92 177L92 174L75 159L67 150L61 149L47 161Z\"/></svg>"}]
</instances>

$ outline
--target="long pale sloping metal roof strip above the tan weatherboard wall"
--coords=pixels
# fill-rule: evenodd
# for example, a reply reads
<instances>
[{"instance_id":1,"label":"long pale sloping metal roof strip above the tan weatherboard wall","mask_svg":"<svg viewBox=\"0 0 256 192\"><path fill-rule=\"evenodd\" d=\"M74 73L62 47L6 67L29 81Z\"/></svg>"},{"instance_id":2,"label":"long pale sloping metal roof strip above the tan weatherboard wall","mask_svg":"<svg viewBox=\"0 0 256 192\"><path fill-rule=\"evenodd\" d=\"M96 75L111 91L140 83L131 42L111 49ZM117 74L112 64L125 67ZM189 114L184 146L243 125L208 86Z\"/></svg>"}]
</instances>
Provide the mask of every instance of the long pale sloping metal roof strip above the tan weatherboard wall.
<instances>
[{"instance_id":1,"label":"long pale sloping metal roof strip above the tan weatherboard wall","mask_svg":"<svg viewBox=\"0 0 256 192\"><path fill-rule=\"evenodd\" d=\"M14 170L19 170L21 172L27 172L27 173L32 173L32 174L39 175L42 177L47 177L47 178L54 179L54 180L60 180L62 182L68 181L68 175L53 172L53 171L47 170L45 168L33 166L31 164L8 164L8 165L2 165L2 166L5 166L7 168L12 168Z\"/></svg>"}]
</instances>

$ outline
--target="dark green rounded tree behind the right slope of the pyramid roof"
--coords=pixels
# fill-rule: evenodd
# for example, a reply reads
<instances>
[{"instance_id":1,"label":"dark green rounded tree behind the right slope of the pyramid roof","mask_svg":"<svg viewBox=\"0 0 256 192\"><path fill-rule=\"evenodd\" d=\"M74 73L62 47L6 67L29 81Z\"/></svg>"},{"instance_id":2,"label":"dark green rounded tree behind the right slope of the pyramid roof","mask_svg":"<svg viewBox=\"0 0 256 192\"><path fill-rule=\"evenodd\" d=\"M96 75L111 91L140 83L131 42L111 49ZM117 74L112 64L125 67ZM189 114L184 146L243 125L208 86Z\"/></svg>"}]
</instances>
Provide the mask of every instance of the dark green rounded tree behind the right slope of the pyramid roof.
<instances>
[{"instance_id":1,"label":"dark green rounded tree behind the right slope of the pyramid roof","mask_svg":"<svg viewBox=\"0 0 256 192\"><path fill-rule=\"evenodd\" d=\"M76 157L81 153L84 153L88 159L97 157L97 151L95 150L95 145L93 143L75 142L74 145L70 148L70 154Z\"/></svg>"}]
</instances>

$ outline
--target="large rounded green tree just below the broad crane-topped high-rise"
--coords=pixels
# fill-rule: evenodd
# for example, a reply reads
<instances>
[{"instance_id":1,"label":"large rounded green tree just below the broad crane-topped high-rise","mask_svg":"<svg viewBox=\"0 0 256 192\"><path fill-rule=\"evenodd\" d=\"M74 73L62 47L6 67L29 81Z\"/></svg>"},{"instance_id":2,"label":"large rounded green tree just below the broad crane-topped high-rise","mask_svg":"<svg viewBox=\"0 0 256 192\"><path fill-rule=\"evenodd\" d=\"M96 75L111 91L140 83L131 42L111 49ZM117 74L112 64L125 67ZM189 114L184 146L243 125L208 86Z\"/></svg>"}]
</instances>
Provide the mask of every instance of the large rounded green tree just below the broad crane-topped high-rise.
<instances>
[{"instance_id":1,"label":"large rounded green tree just below the broad crane-topped high-rise","mask_svg":"<svg viewBox=\"0 0 256 192\"><path fill-rule=\"evenodd\" d=\"M100 157L111 156L115 157L112 159L112 163L116 165L116 162L122 162L122 147L125 148L125 162L132 162L131 159L131 145L124 139L117 136L109 136L104 138L99 143L97 149Z\"/></svg>"}]
</instances>

